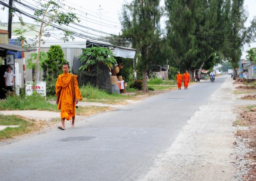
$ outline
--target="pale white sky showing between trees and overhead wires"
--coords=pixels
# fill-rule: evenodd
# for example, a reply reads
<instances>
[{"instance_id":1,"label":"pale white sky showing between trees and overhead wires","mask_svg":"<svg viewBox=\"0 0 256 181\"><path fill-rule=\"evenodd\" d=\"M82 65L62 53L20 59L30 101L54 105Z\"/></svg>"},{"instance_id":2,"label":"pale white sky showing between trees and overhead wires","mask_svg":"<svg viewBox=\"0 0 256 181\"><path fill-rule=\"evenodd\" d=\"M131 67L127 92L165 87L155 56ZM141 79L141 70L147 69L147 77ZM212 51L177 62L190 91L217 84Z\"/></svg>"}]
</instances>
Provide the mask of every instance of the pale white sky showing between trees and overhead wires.
<instances>
[{"instance_id":1,"label":"pale white sky showing between trees and overhead wires","mask_svg":"<svg viewBox=\"0 0 256 181\"><path fill-rule=\"evenodd\" d=\"M31 6L36 6L36 2L38 0L22 1L24 3L27 2L28 4L31 4ZM80 25L91 27L95 30L107 32L109 34L118 35L121 28L119 15L121 12L122 4L130 1L132 0L65 0L64 3L66 4L65 9L73 8L72 12L75 12L81 20L79 23ZM255 4L256 0L244 0L244 6L248 10L246 26L249 25L248 22L253 18L253 16L256 16ZM161 5L164 5L164 0L161 0ZM0 8L1 7L2 5L0 5ZM29 10L26 11L29 12ZM31 21L29 18L26 19ZM8 8L5 10L0 10L0 20L2 22L8 22ZM14 16L13 21L19 21L17 15ZM161 23L161 25L164 26L164 23ZM85 29L81 33L87 33L88 36L93 36L93 34L98 36L108 35L96 32L95 30ZM250 47L256 47L256 43L251 43ZM245 51L250 47L248 44L244 46L244 51L241 58L245 58Z\"/></svg>"}]
</instances>

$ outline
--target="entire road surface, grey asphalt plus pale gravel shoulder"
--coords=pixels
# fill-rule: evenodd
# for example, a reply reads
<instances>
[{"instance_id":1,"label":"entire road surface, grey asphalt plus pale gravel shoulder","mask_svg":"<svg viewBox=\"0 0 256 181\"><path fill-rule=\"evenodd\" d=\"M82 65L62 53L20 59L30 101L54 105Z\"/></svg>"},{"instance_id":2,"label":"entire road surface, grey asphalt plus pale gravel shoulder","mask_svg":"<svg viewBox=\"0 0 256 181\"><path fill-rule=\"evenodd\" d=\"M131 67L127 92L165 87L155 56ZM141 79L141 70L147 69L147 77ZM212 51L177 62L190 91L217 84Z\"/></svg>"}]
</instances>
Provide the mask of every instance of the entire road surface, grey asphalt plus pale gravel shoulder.
<instances>
[{"instance_id":1,"label":"entire road surface, grey asphalt plus pale gravel shoulder","mask_svg":"<svg viewBox=\"0 0 256 181\"><path fill-rule=\"evenodd\" d=\"M6 180L235 180L232 80L217 77L0 147Z\"/></svg>"}]
</instances>

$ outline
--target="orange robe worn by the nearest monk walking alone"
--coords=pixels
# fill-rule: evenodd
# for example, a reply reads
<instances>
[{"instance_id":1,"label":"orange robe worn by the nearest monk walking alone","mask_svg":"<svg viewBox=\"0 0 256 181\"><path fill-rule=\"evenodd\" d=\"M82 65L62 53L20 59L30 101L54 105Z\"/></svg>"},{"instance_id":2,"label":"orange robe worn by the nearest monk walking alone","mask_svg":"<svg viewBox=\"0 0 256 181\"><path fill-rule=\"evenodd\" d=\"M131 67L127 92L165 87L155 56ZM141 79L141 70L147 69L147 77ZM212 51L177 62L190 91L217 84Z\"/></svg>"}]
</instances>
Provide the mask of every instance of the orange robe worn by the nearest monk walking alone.
<instances>
[{"instance_id":1,"label":"orange robe worn by the nearest monk walking alone","mask_svg":"<svg viewBox=\"0 0 256 181\"><path fill-rule=\"evenodd\" d=\"M71 85L71 75L70 73L63 73L59 75L57 81L56 81L56 96L60 92L60 98L58 103L58 109L61 109L60 118L65 118L67 120L70 120L71 117L75 115L75 98L82 100L82 96L80 93L80 89L78 87L77 83L77 75L75 76L74 81L74 92L72 91L72 85ZM73 95L75 94L75 95Z\"/></svg>"}]
</instances>

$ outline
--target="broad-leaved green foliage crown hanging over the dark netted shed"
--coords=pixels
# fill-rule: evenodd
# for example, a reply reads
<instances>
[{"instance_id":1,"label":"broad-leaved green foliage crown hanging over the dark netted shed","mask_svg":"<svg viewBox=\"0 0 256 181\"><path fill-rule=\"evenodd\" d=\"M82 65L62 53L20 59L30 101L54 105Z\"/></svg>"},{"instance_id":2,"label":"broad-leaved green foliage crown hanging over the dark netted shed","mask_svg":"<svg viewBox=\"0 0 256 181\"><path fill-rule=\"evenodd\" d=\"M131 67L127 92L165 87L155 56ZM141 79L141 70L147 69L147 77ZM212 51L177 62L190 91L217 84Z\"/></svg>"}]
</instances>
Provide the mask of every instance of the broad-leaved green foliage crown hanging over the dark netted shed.
<instances>
[{"instance_id":1,"label":"broad-leaved green foliage crown hanging over the dark netted shed","mask_svg":"<svg viewBox=\"0 0 256 181\"><path fill-rule=\"evenodd\" d=\"M79 60L83 65L79 70L85 70L89 65L104 63L107 67L112 67L116 63L113 53L110 49L104 47L91 47L83 49L82 55Z\"/></svg>"}]
</instances>

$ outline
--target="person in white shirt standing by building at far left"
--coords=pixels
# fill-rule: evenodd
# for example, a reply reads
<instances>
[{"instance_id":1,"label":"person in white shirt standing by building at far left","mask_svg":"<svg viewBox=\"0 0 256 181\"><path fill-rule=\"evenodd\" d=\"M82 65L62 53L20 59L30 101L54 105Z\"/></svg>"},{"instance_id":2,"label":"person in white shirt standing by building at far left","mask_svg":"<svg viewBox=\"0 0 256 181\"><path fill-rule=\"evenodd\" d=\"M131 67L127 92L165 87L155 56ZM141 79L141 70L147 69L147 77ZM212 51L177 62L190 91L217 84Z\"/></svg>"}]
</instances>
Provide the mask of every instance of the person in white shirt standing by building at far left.
<instances>
[{"instance_id":1,"label":"person in white shirt standing by building at far left","mask_svg":"<svg viewBox=\"0 0 256 181\"><path fill-rule=\"evenodd\" d=\"M4 74L7 94L10 96L10 92L14 95L14 83L16 75L11 70L11 65L7 65L7 70Z\"/></svg>"}]
</instances>

